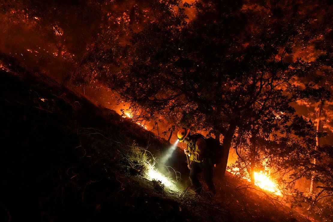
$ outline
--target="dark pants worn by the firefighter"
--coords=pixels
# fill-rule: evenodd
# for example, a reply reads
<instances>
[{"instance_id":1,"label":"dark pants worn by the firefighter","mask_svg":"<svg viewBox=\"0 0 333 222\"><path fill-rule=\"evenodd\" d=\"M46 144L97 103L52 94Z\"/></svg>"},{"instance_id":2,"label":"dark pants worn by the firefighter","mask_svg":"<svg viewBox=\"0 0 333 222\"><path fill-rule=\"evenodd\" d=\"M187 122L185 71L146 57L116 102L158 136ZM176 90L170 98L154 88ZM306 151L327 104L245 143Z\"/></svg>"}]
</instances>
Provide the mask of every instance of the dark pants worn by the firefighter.
<instances>
[{"instance_id":1,"label":"dark pants worn by the firefighter","mask_svg":"<svg viewBox=\"0 0 333 222\"><path fill-rule=\"evenodd\" d=\"M192 185L195 187L196 193L201 193L202 184L199 180L199 173L202 171L203 179L208 186L209 191L216 193L215 185L213 182L213 165L209 161L195 162L191 164L191 170L189 172L189 178Z\"/></svg>"}]
</instances>

